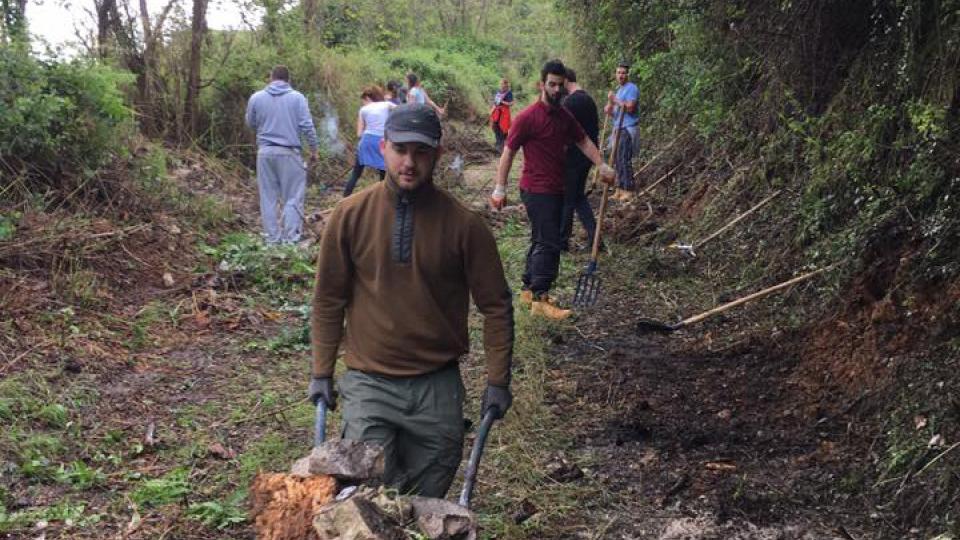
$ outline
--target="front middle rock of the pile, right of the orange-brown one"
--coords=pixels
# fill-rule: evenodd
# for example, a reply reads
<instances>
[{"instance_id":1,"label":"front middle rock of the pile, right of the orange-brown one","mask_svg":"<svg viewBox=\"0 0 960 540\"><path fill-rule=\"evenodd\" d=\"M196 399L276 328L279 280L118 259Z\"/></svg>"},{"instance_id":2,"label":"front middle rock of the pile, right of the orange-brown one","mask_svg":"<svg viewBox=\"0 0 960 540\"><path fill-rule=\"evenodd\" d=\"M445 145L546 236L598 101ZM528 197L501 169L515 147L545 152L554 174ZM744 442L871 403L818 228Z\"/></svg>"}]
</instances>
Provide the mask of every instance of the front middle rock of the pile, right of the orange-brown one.
<instances>
[{"instance_id":1,"label":"front middle rock of the pile, right of the orange-brown one","mask_svg":"<svg viewBox=\"0 0 960 540\"><path fill-rule=\"evenodd\" d=\"M403 540L403 528L376 503L361 496L328 504L313 520L320 540Z\"/></svg>"}]
</instances>

